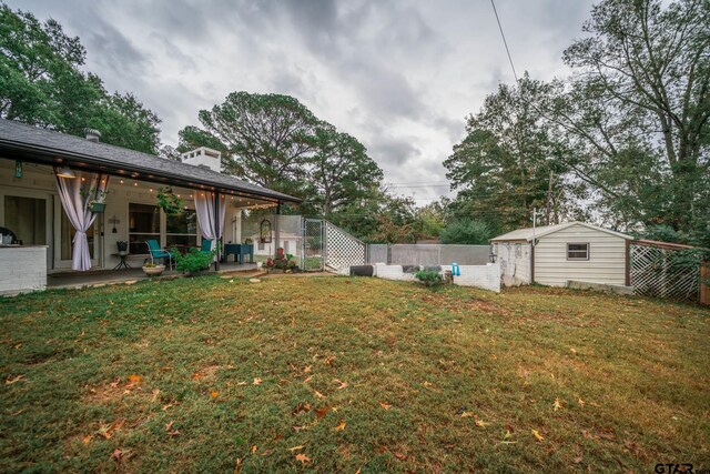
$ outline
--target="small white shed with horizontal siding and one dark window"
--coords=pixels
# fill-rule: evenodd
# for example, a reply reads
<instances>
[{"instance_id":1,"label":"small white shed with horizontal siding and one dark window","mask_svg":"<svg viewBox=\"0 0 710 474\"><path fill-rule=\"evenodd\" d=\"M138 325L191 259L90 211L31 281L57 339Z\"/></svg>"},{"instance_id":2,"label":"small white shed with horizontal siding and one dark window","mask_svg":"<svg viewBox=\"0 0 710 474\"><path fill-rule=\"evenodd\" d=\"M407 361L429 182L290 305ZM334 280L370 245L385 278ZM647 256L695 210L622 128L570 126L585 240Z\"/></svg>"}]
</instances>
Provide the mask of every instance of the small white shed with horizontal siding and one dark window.
<instances>
[{"instance_id":1,"label":"small white shed with horizontal siding and one dark window","mask_svg":"<svg viewBox=\"0 0 710 474\"><path fill-rule=\"evenodd\" d=\"M490 243L506 285L565 286L568 281L580 281L629 286L631 240L609 229L568 222L519 229Z\"/></svg>"}]
</instances>

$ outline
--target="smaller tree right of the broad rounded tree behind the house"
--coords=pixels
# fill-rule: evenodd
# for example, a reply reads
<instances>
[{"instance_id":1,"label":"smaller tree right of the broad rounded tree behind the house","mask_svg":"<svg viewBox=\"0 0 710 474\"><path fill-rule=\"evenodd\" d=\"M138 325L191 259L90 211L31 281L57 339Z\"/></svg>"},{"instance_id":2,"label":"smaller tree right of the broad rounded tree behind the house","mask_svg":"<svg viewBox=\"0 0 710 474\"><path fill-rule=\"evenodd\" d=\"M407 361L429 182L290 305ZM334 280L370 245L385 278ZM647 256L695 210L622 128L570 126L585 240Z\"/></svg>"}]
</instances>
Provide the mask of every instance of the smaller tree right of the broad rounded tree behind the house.
<instances>
[{"instance_id":1,"label":"smaller tree right of the broad rounded tree behind the house","mask_svg":"<svg viewBox=\"0 0 710 474\"><path fill-rule=\"evenodd\" d=\"M383 172L357 139L322 123L311 143L314 154L307 159L307 167L322 215L328 218L346 203L361 201L378 189Z\"/></svg>"}]
</instances>

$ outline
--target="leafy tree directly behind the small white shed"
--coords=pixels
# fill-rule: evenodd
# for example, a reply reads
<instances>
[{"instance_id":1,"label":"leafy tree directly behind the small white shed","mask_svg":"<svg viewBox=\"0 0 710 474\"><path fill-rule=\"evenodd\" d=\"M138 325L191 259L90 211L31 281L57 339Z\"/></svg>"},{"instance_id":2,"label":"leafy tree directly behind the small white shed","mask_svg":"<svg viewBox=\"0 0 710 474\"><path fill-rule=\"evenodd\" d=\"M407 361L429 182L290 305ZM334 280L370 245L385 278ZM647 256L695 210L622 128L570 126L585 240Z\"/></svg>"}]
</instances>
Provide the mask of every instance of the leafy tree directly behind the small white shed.
<instances>
[{"instance_id":1,"label":"leafy tree directly behind the small white shed","mask_svg":"<svg viewBox=\"0 0 710 474\"><path fill-rule=\"evenodd\" d=\"M550 134L540 107L556 84L531 80L501 84L468 118L467 135L444 162L452 188L454 220L475 219L494 231L529 225L532 209L547 210L547 222L575 212L584 186L569 180L562 160L568 150Z\"/></svg>"}]
</instances>

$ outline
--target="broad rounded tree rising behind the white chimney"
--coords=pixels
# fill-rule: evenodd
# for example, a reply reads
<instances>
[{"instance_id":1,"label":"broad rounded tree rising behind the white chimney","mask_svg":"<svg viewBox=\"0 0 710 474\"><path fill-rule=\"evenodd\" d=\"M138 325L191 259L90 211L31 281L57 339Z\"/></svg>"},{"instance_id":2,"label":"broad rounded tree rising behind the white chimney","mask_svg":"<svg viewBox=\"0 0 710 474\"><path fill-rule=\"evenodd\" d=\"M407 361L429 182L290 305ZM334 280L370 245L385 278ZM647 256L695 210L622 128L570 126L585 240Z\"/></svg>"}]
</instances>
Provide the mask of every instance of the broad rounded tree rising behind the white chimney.
<instances>
[{"instance_id":1,"label":"broad rounded tree rising behind the white chimney","mask_svg":"<svg viewBox=\"0 0 710 474\"><path fill-rule=\"evenodd\" d=\"M298 100L282 94L232 92L222 104L201 110L203 130L181 131L181 147L212 143L224 153L227 170L256 184L280 191L303 179L313 152L308 140L318 120ZM209 144L207 144L209 145Z\"/></svg>"}]
</instances>

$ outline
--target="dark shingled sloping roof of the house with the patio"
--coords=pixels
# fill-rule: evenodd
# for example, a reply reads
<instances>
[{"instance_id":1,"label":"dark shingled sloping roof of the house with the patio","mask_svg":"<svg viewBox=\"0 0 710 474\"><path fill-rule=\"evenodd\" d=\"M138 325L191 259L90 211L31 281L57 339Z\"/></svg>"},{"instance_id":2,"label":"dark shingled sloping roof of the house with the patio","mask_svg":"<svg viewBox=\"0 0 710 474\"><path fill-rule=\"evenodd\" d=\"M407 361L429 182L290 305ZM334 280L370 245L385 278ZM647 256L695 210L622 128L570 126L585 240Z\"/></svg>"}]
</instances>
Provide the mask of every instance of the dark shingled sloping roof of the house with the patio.
<instances>
[{"instance_id":1,"label":"dark shingled sloping roof of the house with the patio","mask_svg":"<svg viewBox=\"0 0 710 474\"><path fill-rule=\"evenodd\" d=\"M220 191L273 202L301 200L229 174L106 143L0 119L0 157L133 178L183 188Z\"/></svg>"}]
</instances>

